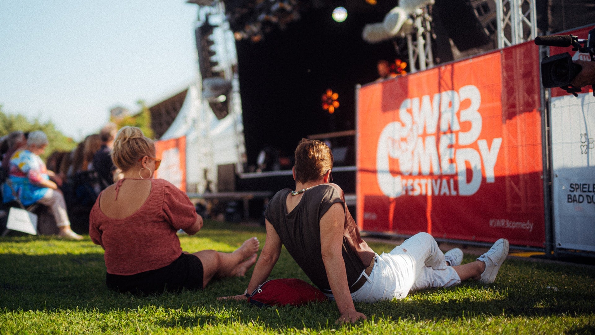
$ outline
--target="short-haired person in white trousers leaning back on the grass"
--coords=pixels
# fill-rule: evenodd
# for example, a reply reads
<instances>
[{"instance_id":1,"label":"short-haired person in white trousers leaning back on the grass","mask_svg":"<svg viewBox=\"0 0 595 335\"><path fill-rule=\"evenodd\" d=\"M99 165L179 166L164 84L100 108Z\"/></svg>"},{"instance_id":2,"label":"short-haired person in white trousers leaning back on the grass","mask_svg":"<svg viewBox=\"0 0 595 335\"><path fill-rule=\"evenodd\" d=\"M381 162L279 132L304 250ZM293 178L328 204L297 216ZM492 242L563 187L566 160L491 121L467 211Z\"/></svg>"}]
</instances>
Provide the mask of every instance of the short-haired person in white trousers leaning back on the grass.
<instances>
[{"instance_id":1,"label":"short-haired person in white trousers leaning back on the grass","mask_svg":"<svg viewBox=\"0 0 595 335\"><path fill-rule=\"evenodd\" d=\"M302 139L295 151L296 189L279 191L265 212L267 240L246 292L267 280L281 245L341 314L337 322L366 318L353 302L402 299L412 291L449 287L474 278L493 283L508 255L500 239L475 262L460 265L463 253L444 255L436 240L419 232L390 253L374 253L359 235L347 210L343 190L330 183L333 154L324 142ZM229 297L248 299L245 294Z\"/></svg>"}]
</instances>

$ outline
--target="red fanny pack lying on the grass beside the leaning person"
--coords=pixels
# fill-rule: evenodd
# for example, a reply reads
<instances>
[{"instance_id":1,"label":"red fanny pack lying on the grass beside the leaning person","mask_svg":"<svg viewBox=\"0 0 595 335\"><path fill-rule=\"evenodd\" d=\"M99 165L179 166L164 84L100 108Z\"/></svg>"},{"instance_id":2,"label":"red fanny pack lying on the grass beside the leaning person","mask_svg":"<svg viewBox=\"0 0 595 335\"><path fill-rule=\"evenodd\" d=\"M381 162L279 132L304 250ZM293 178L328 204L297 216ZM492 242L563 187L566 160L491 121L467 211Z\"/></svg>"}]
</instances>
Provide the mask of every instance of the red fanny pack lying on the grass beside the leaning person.
<instances>
[{"instance_id":1,"label":"red fanny pack lying on the grass beside the leaning person","mask_svg":"<svg viewBox=\"0 0 595 335\"><path fill-rule=\"evenodd\" d=\"M258 307L302 306L308 302L322 302L327 296L303 280L282 278L267 280L250 294L249 301Z\"/></svg>"}]
</instances>

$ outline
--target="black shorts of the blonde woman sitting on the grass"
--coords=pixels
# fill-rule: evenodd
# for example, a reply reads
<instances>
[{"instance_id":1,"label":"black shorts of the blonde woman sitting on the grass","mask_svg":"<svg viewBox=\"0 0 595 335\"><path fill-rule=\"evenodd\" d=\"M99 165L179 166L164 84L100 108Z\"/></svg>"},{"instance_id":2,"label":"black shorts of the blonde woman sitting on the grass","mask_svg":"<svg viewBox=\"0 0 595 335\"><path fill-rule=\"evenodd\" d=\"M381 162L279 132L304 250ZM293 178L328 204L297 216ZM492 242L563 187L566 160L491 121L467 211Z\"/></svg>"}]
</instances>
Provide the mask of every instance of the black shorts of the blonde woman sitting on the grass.
<instances>
[{"instance_id":1,"label":"black shorts of the blonde woman sitting on the grass","mask_svg":"<svg viewBox=\"0 0 595 335\"><path fill-rule=\"evenodd\" d=\"M203 268L201 259L195 255L181 254L170 265L160 269L133 275L106 273L105 283L109 289L133 294L153 294L167 291L202 289Z\"/></svg>"}]
</instances>

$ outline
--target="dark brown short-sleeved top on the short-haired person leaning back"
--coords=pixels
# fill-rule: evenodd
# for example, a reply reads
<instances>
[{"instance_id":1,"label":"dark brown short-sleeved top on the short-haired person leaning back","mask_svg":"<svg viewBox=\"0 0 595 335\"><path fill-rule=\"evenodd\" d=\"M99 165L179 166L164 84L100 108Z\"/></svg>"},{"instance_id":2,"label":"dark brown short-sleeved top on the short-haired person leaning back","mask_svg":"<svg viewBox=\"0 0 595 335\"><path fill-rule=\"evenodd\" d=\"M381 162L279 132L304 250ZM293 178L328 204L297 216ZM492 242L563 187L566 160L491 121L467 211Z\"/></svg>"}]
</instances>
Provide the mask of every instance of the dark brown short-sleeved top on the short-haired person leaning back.
<instances>
[{"instance_id":1,"label":"dark brown short-sleeved top on the short-haired person leaning back","mask_svg":"<svg viewBox=\"0 0 595 335\"><path fill-rule=\"evenodd\" d=\"M343 228L343 260L347 283L352 286L374 258L372 250L359 235L359 229L345 205L343 190L336 184L320 184L308 188L300 203L287 213L289 188L278 191L268 203L265 217L273 225L281 242L297 265L321 290L330 290L320 247L320 219L335 203L345 209Z\"/></svg>"}]
</instances>

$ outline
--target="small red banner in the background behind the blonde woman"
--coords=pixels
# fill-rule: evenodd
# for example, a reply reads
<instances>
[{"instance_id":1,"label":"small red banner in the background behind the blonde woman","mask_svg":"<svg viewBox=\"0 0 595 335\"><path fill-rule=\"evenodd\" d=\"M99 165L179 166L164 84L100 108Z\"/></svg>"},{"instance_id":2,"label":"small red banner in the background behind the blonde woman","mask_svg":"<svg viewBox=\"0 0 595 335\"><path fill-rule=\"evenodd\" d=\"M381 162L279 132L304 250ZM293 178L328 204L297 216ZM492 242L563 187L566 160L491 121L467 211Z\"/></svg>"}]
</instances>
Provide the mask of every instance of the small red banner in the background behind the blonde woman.
<instances>
[{"instance_id":1,"label":"small red banner in the background behind the blonde woman","mask_svg":"<svg viewBox=\"0 0 595 335\"><path fill-rule=\"evenodd\" d=\"M155 151L161 159L155 178L165 179L186 192L186 137L156 141Z\"/></svg>"}]
</instances>

